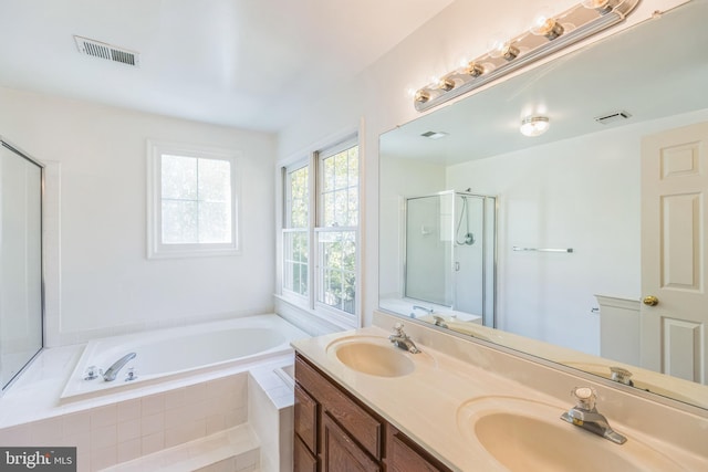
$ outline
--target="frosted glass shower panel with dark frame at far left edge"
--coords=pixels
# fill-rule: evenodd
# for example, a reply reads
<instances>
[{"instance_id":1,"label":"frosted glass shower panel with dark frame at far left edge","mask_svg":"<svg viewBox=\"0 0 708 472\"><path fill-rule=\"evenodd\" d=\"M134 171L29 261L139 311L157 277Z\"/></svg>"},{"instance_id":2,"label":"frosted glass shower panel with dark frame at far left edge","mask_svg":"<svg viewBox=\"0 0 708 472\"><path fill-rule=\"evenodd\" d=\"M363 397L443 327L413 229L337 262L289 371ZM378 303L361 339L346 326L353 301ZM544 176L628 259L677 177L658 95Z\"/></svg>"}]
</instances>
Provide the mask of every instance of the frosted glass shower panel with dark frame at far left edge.
<instances>
[{"instance_id":1,"label":"frosted glass shower panel with dark frame at far left edge","mask_svg":"<svg viewBox=\"0 0 708 472\"><path fill-rule=\"evenodd\" d=\"M42 166L0 138L0 388L42 348Z\"/></svg>"}]
</instances>

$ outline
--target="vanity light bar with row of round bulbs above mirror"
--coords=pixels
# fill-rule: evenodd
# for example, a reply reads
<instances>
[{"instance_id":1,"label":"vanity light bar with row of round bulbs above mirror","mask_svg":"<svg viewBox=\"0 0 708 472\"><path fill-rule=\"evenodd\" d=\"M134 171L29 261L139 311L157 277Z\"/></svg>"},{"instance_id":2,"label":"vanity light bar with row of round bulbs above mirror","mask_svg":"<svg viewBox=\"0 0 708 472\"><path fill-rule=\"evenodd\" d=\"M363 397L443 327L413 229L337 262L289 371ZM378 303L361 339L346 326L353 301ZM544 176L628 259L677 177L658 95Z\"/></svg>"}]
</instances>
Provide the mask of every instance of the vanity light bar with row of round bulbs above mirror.
<instances>
[{"instance_id":1,"label":"vanity light bar with row of round bulbs above mirror","mask_svg":"<svg viewBox=\"0 0 708 472\"><path fill-rule=\"evenodd\" d=\"M546 19L550 29L525 31L499 44L467 66L447 73L437 83L428 84L415 94L418 112L458 97L533 61L603 31L624 19L639 0L583 1ZM600 6L600 7L598 7Z\"/></svg>"}]
</instances>

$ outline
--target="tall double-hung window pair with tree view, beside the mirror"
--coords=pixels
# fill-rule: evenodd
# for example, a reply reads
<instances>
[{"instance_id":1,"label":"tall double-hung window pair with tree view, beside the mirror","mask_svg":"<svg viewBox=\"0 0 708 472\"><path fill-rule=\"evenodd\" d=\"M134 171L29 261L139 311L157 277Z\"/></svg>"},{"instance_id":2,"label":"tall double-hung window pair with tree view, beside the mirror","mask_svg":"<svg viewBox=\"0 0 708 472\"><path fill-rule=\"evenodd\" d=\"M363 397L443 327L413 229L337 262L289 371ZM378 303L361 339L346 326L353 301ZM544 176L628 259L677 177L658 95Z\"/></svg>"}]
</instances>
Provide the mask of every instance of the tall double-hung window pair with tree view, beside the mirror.
<instances>
[{"instance_id":1,"label":"tall double-hung window pair with tree view, beside the mirror","mask_svg":"<svg viewBox=\"0 0 708 472\"><path fill-rule=\"evenodd\" d=\"M284 168L282 292L323 317L357 324L358 145Z\"/></svg>"}]
</instances>

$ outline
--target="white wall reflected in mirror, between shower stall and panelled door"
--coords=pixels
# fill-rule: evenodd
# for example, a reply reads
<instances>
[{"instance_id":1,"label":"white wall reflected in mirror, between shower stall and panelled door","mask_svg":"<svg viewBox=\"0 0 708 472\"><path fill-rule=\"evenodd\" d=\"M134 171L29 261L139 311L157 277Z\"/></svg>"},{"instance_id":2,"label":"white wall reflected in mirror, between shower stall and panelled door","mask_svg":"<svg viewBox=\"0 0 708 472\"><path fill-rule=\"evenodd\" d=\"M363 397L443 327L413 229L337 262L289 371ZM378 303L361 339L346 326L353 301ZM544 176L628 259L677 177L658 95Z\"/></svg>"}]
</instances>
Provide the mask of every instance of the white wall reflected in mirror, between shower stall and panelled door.
<instances>
[{"instance_id":1,"label":"white wall reflected in mirror, between shower stall and panelled door","mask_svg":"<svg viewBox=\"0 0 708 472\"><path fill-rule=\"evenodd\" d=\"M500 328L600 354L593 295L638 298L639 136L635 128L448 169L448 186L468 185L498 197ZM573 253L516 252L513 247L572 248Z\"/></svg>"}]
</instances>

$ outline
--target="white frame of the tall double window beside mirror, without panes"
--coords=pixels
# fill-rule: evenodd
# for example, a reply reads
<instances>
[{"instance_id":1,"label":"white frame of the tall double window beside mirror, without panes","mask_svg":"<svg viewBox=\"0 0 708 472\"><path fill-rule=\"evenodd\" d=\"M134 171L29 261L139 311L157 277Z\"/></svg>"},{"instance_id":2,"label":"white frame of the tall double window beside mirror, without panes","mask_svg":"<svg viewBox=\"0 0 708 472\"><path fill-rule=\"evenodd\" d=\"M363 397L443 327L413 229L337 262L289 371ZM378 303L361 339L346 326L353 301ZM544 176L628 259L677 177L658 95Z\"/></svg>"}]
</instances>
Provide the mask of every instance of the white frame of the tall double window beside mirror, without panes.
<instances>
[{"instance_id":1,"label":"white frame of the tall double window beside mirror, without panes","mask_svg":"<svg viewBox=\"0 0 708 472\"><path fill-rule=\"evenodd\" d=\"M356 227L322 227L322 217L321 212L323 209L323 202L321 200L322 197L322 169L321 161L323 158L330 157L334 154L340 153L341 150L347 149L352 146L358 146L358 168L357 168L357 225ZM315 150L306 151L300 154L302 156L299 159L292 159L290 165L281 166L281 181L283 185L282 191L282 221L281 221L281 237L280 237L280 245L281 245L281 255L280 255L280 281L279 281L279 290L281 297L291 303L292 305L299 306L301 308L306 310L309 313L326 321L333 323L343 328L357 327L361 325L361 228L362 228L362 165L363 165L363 151L362 144L358 140L358 136L348 134L346 138L342 139L333 139L330 140L330 144L325 144L322 146L314 147ZM309 229L308 229L308 244L309 244L309 286L308 286L308 296L304 297L300 294L288 291L283 286L283 277L284 277L284 241L283 234L289 229L285 224L285 214L287 211L287 193L288 189L284 187L288 179L287 172L289 170L295 170L303 166L308 166L310 168L309 172L309 182L310 182L310 211L309 211ZM354 297L354 313L347 313L337 308L334 308L325 303L319 302L319 293L323 290L322 283L319 280L319 273L321 270L321 261L320 261L320 247L319 247L319 235L322 233L331 232L331 231L353 231L354 232L354 241L356 244L356 255L355 255L355 297Z\"/></svg>"}]
</instances>

